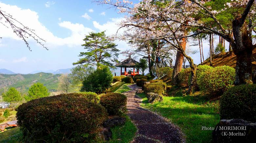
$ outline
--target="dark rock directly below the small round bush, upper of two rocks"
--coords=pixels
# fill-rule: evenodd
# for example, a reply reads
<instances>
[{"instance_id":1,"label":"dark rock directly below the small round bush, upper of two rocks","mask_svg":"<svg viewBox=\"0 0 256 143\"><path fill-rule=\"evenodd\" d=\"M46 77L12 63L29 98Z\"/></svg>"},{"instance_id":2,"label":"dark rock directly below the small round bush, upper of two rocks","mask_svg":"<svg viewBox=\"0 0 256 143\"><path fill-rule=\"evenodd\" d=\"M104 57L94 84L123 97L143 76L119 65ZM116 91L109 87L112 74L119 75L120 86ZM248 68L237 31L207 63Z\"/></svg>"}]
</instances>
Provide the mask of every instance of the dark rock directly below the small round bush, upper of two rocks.
<instances>
[{"instance_id":1,"label":"dark rock directly below the small round bush, upper of two rocks","mask_svg":"<svg viewBox=\"0 0 256 143\"><path fill-rule=\"evenodd\" d=\"M119 126L119 125L123 125L126 122L126 118L124 117L120 117L120 116L114 116L110 119L107 119L104 123L103 123L103 127L107 128L111 128L114 126Z\"/></svg>"}]
</instances>

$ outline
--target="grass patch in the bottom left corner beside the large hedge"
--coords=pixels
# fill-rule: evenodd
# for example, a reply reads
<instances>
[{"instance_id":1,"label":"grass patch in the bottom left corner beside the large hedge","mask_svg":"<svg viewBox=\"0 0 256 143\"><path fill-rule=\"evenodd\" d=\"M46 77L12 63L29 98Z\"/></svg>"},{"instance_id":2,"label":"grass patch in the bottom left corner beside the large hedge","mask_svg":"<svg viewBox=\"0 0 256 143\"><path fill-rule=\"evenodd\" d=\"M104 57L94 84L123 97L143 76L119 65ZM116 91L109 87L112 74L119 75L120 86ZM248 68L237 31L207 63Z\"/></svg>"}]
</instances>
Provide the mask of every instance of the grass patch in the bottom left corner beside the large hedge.
<instances>
[{"instance_id":1,"label":"grass patch in the bottom left corner beside the large hedge","mask_svg":"<svg viewBox=\"0 0 256 143\"><path fill-rule=\"evenodd\" d=\"M1 143L22 143L22 132L19 127L0 133Z\"/></svg>"}]
</instances>

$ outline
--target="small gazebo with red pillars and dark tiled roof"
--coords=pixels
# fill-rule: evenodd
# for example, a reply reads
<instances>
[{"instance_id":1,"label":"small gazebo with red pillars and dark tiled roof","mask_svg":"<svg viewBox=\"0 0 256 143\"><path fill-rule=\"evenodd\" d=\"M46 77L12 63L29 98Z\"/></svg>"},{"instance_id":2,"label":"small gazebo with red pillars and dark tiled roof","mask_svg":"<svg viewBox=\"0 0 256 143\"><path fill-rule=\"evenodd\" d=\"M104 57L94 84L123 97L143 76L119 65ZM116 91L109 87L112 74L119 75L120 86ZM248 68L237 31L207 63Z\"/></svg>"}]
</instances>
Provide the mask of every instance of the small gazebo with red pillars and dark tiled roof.
<instances>
[{"instance_id":1,"label":"small gazebo with red pillars and dark tiled roof","mask_svg":"<svg viewBox=\"0 0 256 143\"><path fill-rule=\"evenodd\" d=\"M139 62L137 62L136 60L132 59L131 56L129 56L129 58L127 58L126 60L117 63L116 67L120 67L121 68L121 75L125 75L125 76L135 76L137 74L139 74L139 68L137 69L137 72L135 72L135 67ZM124 68L124 72L122 72L122 68ZM126 68L133 68L133 72L129 73L126 71Z\"/></svg>"}]
</instances>

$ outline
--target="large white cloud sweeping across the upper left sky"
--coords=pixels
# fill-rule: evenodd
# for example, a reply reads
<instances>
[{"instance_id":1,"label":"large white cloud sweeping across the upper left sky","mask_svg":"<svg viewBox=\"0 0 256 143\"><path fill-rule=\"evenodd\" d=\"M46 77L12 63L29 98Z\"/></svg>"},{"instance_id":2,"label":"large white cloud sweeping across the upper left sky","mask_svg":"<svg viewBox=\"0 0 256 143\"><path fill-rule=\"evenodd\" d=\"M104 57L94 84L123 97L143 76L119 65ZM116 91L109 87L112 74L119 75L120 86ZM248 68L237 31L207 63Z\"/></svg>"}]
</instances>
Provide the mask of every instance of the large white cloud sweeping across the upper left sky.
<instances>
[{"instance_id":1,"label":"large white cloud sweeping across the upper left sky","mask_svg":"<svg viewBox=\"0 0 256 143\"><path fill-rule=\"evenodd\" d=\"M30 9L22 9L17 6L6 5L0 2L1 10L10 13L13 18L20 21L22 24L35 30L35 33L46 40L46 46L48 48L68 45L69 47L80 46L83 43L84 35L94 30L85 27L83 24L73 24L69 21L60 22L58 25L63 28L67 28L71 31L71 35L66 38L59 38L55 36L49 29L47 29L42 23L39 22L38 13ZM61 20L61 19L59 19ZM2 21L3 22L3 21ZM16 34L13 33L11 28L0 26L1 37L11 38L15 40L21 40ZM29 43L35 42L32 38L29 38ZM26 45L24 45L26 46Z\"/></svg>"}]
</instances>

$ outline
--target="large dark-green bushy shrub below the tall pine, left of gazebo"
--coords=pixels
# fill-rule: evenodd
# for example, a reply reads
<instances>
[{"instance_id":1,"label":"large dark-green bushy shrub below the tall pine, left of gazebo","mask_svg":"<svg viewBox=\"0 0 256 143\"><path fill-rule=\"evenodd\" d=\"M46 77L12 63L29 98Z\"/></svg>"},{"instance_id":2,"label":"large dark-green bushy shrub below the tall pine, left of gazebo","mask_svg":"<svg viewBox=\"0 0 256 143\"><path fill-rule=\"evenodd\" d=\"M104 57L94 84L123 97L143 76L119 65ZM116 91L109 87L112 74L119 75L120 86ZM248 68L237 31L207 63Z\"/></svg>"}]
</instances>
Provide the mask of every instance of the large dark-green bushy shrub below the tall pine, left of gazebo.
<instances>
[{"instance_id":1,"label":"large dark-green bushy shrub below the tall pine, left of gazebo","mask_svg":"<svg viewBox=\"0 0 256 143\"><path fill-rule=\"evenodd\" d=\"M80 91L102 93L111 87L112 82L113 74L110 69L107 66L100 66L85 78Z\"/></svg>"}]
</instances>

